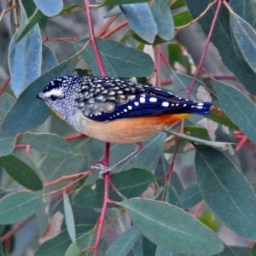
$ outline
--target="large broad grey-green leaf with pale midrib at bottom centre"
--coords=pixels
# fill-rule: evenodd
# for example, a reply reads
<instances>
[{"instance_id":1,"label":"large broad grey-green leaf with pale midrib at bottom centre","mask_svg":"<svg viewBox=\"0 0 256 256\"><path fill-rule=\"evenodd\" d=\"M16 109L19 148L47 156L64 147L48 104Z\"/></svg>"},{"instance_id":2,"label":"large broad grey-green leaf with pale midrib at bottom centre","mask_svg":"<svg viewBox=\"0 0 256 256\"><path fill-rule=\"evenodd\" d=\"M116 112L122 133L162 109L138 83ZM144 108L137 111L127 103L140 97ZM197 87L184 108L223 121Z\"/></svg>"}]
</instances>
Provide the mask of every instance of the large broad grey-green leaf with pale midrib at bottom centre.
<instances>
[{"instance_id":1,"label":"large broad grey-green leaf with pale midrib at bottom centre","mask_svg":"<svg viewBox=\"0 0 256 256\"><path fill-rule=\"evenodd\" d=\"M207 256L224 249L212 230L178 207L138 198L119 205L125 208L144 236L167 250Z\"/></svg>"}]
</instances>

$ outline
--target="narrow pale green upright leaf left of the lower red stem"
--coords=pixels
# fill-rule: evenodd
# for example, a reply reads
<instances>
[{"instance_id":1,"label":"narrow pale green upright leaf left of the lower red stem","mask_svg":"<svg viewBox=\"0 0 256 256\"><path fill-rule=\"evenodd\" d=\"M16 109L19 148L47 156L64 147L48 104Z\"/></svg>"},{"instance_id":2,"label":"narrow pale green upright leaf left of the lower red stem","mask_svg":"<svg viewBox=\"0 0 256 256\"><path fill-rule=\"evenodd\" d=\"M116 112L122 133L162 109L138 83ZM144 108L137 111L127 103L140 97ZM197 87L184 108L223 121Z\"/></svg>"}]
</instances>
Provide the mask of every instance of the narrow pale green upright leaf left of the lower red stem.
<instances>
[{"instance_id":1,"label":"narrow pale green upright leaf left of the lower red stem","mask_svg":"<svg viewBox=\"0 0 256 256\"><path fill-rule=\"evenodd\" d=\"M76 230L75 230L75 224L73 219L73 210L68 198L67 193L64 193L63 195L63 203L64 203L64 213L65 213L65 219L67 224L67 232L73 241L73 243L76 242Z\"/></svg>"}]
</instances>

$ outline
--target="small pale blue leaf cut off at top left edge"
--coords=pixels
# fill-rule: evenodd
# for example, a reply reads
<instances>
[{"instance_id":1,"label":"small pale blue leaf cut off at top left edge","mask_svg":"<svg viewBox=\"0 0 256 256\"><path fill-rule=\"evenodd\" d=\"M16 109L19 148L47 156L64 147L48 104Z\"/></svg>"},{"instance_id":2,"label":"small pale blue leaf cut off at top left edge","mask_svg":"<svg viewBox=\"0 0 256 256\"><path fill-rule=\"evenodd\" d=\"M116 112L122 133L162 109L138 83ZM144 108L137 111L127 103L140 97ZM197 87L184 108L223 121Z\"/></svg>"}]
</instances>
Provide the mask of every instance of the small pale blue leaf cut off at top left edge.
<instances>
[{"instance_id":1,"label":"small pale blue leaf cut off at top left edge","mask_svg":"<svg viewBox=\"0 0 256 256\"><path fill-rule=\"evenodd\" d=\"M33 0L37 8L48 17L53 17L58 15L63 9L62 0L55 0L55 3L52 4L51 0Z\"/></svg>"}]
</instances>

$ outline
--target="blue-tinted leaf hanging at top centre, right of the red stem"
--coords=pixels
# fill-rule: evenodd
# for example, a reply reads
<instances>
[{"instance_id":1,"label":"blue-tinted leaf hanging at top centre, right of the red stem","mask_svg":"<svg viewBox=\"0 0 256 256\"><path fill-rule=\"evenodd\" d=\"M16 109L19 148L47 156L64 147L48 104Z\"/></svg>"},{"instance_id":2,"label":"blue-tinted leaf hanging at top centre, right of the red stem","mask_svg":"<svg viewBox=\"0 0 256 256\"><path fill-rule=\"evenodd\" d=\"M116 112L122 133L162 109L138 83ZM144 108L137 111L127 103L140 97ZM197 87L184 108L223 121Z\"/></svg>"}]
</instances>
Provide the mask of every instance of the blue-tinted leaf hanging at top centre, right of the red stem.
<instances>
[{"instance_id":1,"label":"blue-tinted leaf hanging at top centre, right of the red stem","mask_svg":"<svg viewBox=\"0 0 256 256\"><path fill-rule=\"evenodd\" d=\"M121 4L120 8L131 29L148 43L153 43L158 31L148 3Z\"/></svg>"}]
</instances>

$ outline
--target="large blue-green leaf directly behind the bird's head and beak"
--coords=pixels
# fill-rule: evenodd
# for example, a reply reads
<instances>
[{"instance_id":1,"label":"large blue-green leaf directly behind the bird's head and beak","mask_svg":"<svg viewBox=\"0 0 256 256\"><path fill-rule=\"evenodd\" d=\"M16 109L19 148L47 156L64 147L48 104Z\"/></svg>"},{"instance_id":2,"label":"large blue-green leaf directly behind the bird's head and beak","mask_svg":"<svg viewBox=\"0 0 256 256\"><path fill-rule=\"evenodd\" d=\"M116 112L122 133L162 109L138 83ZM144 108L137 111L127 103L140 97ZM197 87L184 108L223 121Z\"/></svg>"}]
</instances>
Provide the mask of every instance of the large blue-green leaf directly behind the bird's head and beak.
<instances>
[{"instance_id":1,"label":"large blue-green leaf directly behind the bird's head and beak","mask_svg":"<svg viewBox=\"0 0 256 256\"><path fill-rule=\"evenodd\" d=\"M40 91L44 90L46 84L52 79L73 73L77 57L78 54L73 55L66 61L62 61L58 66L53 67L33 81L24 90L3 120L3 131L16 134L41 125L49 117L50 109L43 101L38 100L36 96Z\"/></svg>"}]
</instances>

